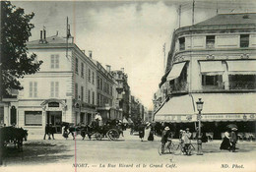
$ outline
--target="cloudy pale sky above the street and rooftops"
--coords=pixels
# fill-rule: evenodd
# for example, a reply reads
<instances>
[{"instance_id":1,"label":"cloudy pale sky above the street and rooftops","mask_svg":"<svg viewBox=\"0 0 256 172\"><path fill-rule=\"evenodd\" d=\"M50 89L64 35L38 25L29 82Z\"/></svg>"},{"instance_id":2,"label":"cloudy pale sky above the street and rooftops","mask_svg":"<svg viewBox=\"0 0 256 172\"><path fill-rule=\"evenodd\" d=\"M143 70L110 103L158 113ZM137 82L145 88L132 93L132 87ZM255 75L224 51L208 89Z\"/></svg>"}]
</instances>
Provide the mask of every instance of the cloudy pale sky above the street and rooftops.
<instances>
[{"instance_id":1,"label":"cloudy pale sky above the street and rooftops","mask_svg":"<svg viewBox=\"0 0 256 172\"><path fill-rule=\"evenodd\" d=\"M45 27L47 36L65 36L69 18L71 34L80 49L93 51L93 59L110 65L111 70L124 68L128 84L149 109L153 95L164 74L171 35L178 29L178 7L181 5L181 27L192 24L192 0L168 1L11 1L25 13L34 13L32 37L39 38ZM253 0L195 1L195 24L218 13L256 12Z\"/></svg>"}]
</instances>

